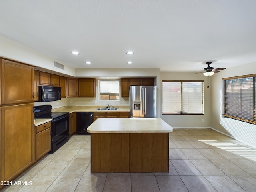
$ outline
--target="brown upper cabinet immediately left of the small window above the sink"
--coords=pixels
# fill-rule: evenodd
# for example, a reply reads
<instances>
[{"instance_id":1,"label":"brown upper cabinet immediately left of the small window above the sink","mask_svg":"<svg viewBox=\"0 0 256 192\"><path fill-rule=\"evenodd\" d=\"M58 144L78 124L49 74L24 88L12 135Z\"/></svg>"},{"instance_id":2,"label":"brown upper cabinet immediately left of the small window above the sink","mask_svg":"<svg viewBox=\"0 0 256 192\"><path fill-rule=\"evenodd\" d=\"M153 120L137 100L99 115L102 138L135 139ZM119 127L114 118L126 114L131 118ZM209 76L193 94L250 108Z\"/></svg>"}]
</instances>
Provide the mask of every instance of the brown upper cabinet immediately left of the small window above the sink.
<instances>
[{"instance_id":1,"label":"brown upper cabinet immediately left of the small window above the sink","mask_svg":"<svg viewBox=\"0 0 256 192\"><path fill-rule=\"evenodd\" d=\"M78 79L78 97L96 97L96 79Z\"/></svg>"}]
</instances>

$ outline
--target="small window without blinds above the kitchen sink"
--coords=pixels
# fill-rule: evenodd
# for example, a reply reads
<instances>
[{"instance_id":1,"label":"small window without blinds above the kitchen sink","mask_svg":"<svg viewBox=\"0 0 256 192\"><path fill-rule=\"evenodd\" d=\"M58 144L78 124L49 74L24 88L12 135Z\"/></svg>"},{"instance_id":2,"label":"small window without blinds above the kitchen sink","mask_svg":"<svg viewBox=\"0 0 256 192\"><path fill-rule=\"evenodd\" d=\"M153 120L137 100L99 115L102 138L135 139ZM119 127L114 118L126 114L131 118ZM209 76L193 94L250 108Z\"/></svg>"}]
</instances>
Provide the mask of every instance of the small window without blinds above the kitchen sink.
<instances>
[{"instance_id":1,"label":"small window without blinds above the kitchen sink","mask_svg":"<svg viewBox=\"0 0 256 192\"><path fill-rule=\"evenodd\" d=\"M100 81L100 100L119 100L119 81Z\"/></svg>"}]
</instances>

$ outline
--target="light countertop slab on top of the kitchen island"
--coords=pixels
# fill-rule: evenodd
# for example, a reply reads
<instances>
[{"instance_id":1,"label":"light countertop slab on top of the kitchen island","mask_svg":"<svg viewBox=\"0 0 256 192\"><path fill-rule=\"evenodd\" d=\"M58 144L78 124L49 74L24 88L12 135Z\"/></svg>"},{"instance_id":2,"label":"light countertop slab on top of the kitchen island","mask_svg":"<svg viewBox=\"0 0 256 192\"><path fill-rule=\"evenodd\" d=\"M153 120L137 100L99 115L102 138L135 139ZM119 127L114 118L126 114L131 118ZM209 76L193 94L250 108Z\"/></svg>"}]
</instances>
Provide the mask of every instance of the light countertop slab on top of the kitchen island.
<instances>
[{"instance_id":1,"label":"light countertop slab on top of the kitchen island","mask_svg":"<svg viewBox=\"0 0 256 192\"><path fill-rule=\"evenodd\" d=\"M172 127L161 118L98 118L89 133L169 133Z\"/></svg>"}]
</instances>

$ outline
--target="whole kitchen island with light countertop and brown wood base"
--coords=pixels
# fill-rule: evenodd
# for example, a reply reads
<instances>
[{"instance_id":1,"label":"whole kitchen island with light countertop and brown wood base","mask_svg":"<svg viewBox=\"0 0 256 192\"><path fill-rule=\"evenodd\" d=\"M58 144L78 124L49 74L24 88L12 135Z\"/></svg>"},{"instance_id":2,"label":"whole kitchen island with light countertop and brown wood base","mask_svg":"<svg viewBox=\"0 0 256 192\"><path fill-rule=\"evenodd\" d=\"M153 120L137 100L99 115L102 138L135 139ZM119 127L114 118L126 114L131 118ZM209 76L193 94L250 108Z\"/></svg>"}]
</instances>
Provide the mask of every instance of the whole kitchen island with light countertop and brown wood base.
<instances>
[{"instance_id":1,"label":"whole kitchen island with light countertop and brown wood base","mask_svg":"<svg viewBox=\"0 0 256 192\"><path fill-rule=\"evenodd\" d=\"M160 118L98 118L91 133L91 172L168 172L169 132Z\"/></svg>"}]
</instances>

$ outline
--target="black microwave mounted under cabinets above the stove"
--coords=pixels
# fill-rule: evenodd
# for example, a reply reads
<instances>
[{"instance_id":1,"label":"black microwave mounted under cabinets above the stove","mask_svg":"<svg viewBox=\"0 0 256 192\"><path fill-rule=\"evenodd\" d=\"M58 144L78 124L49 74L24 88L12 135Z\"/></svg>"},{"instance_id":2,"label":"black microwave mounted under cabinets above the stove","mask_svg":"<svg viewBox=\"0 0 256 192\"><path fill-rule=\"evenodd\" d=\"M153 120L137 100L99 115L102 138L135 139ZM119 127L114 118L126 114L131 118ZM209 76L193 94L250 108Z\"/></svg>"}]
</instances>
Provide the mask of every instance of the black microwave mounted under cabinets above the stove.
<instances>
[{"instance_id":1,"label":"black microwave mounted under cabinets above the stove","mask_svg":"<svg viewBox=\"0 0 256 192\"><path fill-rule=\"evenodd\" d=\"M39 86L39 101L57 101L61 99L61 87Z\"/></svg>"}]
</instances>

